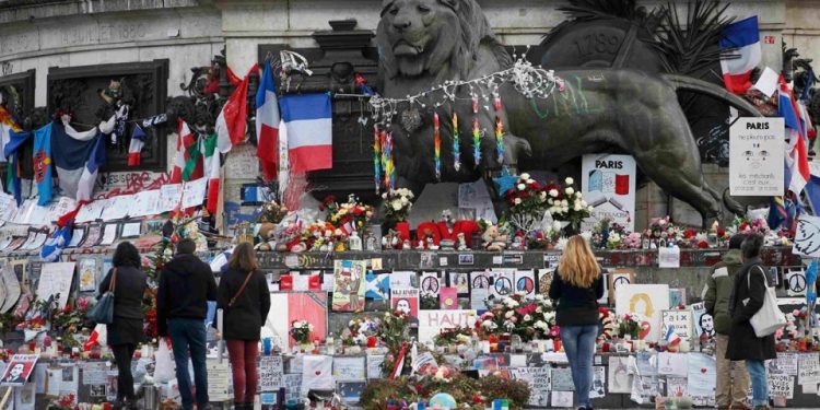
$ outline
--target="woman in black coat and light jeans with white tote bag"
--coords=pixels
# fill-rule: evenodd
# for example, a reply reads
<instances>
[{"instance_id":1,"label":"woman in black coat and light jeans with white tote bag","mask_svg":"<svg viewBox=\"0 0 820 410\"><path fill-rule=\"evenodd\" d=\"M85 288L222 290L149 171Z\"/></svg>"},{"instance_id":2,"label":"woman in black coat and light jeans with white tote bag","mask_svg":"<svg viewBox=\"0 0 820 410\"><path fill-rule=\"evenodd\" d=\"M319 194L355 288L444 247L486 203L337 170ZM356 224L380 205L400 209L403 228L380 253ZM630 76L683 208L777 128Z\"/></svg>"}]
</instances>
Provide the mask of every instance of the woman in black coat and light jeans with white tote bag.
<instances>
[{"instance_id":1,"label":"woman in black coat and light jeans with white tote bag","mask_svg":"<svg viewBox=\"0 0 820 410\"><path fill-rule=\"evenodd\" d=\"M735 284L729 296L729 316L731 330L726 359L746 361L752 385L752 406L755 410L769 409L769 385L766 382L765 361L775 359L774 336L759 338L749 320L761 307L765 298L769 279L760 249L763 247L763 236L755 234L743 241L740 250L743 266L735 276Z\"/></svg>"}]
</instances>

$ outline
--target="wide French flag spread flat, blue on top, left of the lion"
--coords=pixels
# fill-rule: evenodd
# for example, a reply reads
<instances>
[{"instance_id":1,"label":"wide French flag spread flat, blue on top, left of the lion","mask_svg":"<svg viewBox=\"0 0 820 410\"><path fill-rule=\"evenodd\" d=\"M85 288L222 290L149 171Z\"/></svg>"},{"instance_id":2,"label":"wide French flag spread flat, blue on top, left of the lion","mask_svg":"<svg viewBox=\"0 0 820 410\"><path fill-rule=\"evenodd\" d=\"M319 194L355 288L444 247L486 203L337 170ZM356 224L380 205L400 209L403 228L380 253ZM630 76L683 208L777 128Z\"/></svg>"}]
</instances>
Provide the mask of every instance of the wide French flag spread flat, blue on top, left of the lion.
<instances>
[{"instance_id":1,"label":"wide French flag spread flat, blue on top, left of the lion","mask_svg":"<svg viewBox=\"0 0 820 410\"><path fill-rule=\"evenodd\" d=\"M286 95L280 102L288 127L291 173L333 166L333 132L329 94Z\"/></svg>"}]
</instances>

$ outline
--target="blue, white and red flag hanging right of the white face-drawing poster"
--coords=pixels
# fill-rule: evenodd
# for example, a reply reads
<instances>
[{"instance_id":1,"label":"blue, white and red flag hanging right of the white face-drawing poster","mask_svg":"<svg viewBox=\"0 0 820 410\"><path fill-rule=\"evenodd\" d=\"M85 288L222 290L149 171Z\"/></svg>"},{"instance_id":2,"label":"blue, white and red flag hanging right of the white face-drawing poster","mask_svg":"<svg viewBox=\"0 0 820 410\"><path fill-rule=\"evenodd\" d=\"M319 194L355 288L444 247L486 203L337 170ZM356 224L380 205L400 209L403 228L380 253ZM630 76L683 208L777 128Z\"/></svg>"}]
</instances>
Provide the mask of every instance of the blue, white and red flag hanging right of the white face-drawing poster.
<instances>
[{"instance_id":1,"label":"blue, white and red flag hanging right of the white face-drawing poster","mask_svg":"<svg viewBox=\"0 0 820 410\"><path fill-rule=\"evenodd\" d=\"M789 139L788 150L786 151L787 173L792 175L787 185L788 190L799 196L809 178L811 178L808 141L803 133L803 121L799 118L797 104L783 78L781 78L777 112L786 124L786 137Z\"/></svg>"}]
</instances>

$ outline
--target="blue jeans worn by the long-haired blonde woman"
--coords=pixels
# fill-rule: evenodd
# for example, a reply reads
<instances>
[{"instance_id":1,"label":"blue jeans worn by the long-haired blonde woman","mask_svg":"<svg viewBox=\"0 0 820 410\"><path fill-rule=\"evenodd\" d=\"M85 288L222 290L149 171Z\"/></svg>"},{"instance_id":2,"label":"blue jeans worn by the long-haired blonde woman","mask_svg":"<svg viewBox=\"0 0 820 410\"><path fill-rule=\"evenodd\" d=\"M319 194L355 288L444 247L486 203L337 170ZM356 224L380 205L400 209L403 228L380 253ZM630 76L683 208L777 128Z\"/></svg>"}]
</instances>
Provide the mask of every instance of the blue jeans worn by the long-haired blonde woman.
<instances>
[{"instance_id":1,"label":"blue jeans worn by the long-haired blonde woman","mask_svg":"<svg viewBox=\"0 0 820 410\"><path fill-rule=\"evenodd\" d=\"M598 325L562 326L561 343L570 361L572 382L578 396L578 407L593 408L589 390L593 388L593 354Z\"/></svg>"}]
</instances>

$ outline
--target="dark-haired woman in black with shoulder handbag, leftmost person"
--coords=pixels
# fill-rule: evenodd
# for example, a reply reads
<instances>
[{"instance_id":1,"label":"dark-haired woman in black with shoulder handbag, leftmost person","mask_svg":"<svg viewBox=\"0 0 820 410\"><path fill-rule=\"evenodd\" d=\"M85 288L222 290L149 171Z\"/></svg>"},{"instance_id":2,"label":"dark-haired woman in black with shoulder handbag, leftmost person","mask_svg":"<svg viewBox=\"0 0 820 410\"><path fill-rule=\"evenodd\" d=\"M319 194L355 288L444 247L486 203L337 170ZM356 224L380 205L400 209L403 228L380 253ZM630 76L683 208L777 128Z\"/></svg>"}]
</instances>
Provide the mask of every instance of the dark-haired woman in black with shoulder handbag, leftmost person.
<instances>
[{"instance_id":1,"label":"dark-haired woman in black with shoulder handbag, leftmost person","mask_svg":"<svg viewBox=\"0 0 820 410\"><path fill-rule=\"evenodd\" d=\"M143 338L142 296L148 288L140 253L130 242L117 245L113 268L99 284L99 295L112 292L113 320L107 324L107 342L117 363L117 401L115 409L137 409L133 393L131 358Z\"/></svg>"}]
</instances>

